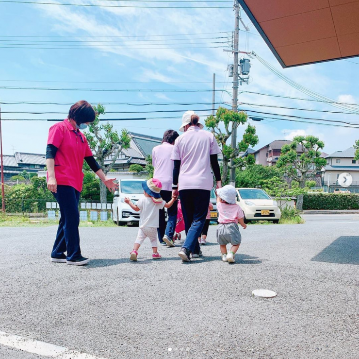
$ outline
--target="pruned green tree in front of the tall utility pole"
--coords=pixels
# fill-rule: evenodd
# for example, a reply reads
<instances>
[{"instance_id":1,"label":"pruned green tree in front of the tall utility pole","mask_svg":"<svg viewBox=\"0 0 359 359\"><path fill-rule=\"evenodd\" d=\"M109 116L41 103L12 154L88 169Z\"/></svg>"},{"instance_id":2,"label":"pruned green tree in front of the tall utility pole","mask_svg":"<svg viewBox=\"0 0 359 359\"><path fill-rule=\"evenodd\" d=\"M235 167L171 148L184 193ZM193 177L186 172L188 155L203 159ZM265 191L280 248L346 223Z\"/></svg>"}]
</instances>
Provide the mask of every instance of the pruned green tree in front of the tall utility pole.
<instances>
[{"instance_id":1,"label":"pruned green tree in front of the tall utility pole","mask_svg":"<svg viewBox=\"0 0 359 359\"><path fill-rule=\"evenodd\" d=\"M228 181L228 171L231 168L231 159L234 160L234 168L243 168L246 164L254 163L254 157L251 154L246 157L239 157L241 152L247 151L249 146L255 146L259 142L254 126L248 123L243 138L238 142L235 149L232 149L230 144L228 144L228 139L232 136L233 130L237 129L240 125L244 125L247 120L248 116L245 112L235 112L224 107L219 107L215 116L211 115L205 120L206 127L212 131L222 150L223 184Z\"/></svg>"}]
</instances>

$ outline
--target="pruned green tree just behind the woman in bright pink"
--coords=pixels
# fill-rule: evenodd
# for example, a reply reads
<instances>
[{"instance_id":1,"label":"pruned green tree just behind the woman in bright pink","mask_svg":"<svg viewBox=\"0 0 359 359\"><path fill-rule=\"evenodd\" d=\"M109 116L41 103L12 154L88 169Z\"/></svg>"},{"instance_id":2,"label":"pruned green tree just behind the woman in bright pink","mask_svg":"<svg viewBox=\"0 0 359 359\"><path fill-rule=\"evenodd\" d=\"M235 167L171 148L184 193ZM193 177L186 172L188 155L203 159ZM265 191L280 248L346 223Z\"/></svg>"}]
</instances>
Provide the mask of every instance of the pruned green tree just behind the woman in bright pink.
<instances>
[{"instance_id":1,"label":"pruned green tree just behind the woman in bright pink","mask_svg":"<svg viewBox=\"0 0 359 359\"><path fill-rule=\"evenodd\" d=\"M131 137L126 129L122 129L119 135L111 123L101 123L99 117L106 112L103 105L94 106L94 110L96 119L90 123L89 132L85 132L85 136L102 171L107 174L114 167L121 151L130 147ZM111 160L105 165L105 159L110 155ZM107 202L107 188L102 181L100 181L100 198L101 203Z\"/></svg>"}]
</instances>

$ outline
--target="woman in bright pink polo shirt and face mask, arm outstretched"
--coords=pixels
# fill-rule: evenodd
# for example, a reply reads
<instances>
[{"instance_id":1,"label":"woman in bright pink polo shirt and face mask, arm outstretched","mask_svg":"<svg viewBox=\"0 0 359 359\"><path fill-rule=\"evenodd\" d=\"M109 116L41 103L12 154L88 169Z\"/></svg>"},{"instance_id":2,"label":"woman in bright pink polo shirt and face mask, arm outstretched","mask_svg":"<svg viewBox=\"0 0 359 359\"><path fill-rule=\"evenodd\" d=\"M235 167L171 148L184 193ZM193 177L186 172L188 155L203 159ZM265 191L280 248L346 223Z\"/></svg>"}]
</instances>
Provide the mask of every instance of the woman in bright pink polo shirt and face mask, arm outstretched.
<instances>
[{"instance_id":1,"label":"woman in bright pink polo shirt and face mask, arm outstretched","mask_svg":"<svg viewBox=\"0 0 359 359\"><path fill-rule=\"evenodd\" d=\"M107 188L114 190L118 187L113 179L105 176L86 137L80 132L93 122L95 117L96 113L91 104L79 101L71 106L67 119L49 129L46 150L48 188L56 198L61 213L51 262L83 265L89 261L81 255L79 235L83 160L86 160Z\"/></svg>"}]
</instances>

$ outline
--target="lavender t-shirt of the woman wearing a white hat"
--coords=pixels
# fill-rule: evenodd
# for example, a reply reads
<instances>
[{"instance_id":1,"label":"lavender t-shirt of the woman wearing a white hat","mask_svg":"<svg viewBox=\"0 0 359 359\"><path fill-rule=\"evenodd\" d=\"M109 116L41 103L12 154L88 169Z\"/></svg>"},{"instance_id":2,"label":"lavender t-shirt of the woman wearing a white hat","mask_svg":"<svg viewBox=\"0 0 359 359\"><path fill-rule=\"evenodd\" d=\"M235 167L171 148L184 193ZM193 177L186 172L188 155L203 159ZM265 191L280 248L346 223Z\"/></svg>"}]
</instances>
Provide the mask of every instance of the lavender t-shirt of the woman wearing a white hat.
<instances>
[{"instance_id":1,"label":"lavender t-shirt of the woman wearing a white hat","mask_svg":"<svg viewBox=\"0 0 359 359\"><path fill-rule=\"evenodd\" d=\"M213 188L211 154L219 154L218 143L211 132L191 126L175 141L171 159L180 160L179 190Z\"/></svg>"}]
</instances>

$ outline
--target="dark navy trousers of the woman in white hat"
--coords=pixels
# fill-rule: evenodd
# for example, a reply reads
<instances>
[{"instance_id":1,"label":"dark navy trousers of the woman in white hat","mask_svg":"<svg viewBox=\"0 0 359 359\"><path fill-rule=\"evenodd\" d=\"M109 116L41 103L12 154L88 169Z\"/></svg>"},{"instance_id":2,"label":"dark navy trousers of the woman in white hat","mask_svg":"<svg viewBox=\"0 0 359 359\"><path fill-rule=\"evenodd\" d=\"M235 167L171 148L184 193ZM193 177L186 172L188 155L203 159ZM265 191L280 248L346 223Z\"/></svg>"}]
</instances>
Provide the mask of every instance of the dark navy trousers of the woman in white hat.
<instances>
[{"instance_id":1,"label":"dark navy trousers of the woman in white hat","mask_svg":"<svg viewBox=\"0 0 359 359\"><path fill-rule=\"evenodd\" d=\"M211 191L205 189L182 189L179 191L186 240L182 247L199 254L198 237L201 235L208 213Z\"/></svg>"}]
</instances>

